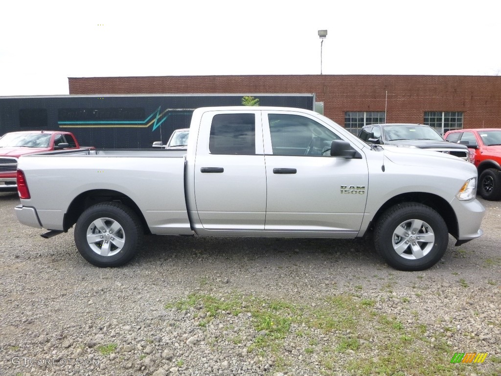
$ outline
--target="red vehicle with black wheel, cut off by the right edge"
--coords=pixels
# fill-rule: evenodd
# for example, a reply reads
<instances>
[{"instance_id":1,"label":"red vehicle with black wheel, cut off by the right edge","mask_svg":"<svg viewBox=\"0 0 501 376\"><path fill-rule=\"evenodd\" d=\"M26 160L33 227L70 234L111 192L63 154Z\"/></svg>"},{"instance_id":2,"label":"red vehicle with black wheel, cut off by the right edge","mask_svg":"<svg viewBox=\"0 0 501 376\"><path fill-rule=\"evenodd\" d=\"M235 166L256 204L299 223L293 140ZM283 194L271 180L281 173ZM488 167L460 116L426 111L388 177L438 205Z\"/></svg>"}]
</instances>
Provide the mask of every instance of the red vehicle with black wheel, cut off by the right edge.
<instances>
[{"instance_id":1,"label":"red vehicle with black wheel, cut off by the right edge","mask_svg":"<svg viewBox=\"0 0 501 376\"><path fill-rule=\"evenodd\" d=\"M447 141L468 146L478 170L478 193L485 199L501 199L501 129L459 129L445 133Z\"/></svg>"}]
</instances>

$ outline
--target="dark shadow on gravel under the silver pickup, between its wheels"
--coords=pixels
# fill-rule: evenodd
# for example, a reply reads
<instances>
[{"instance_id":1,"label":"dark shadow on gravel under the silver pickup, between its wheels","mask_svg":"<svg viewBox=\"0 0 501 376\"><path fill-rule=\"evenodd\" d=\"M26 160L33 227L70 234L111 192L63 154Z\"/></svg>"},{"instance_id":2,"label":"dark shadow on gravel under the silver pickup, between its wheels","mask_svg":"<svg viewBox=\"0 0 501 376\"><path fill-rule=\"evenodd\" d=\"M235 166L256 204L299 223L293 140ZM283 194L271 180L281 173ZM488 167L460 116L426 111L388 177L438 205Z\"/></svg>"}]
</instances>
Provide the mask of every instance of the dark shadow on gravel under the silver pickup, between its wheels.
<instances>
[{"instance_id":1,"label":"dark shadow on gravel under the silver pickup, between its wheels","mask_svg":"<svg viewBox=\"0 0 501 376\"><path fill-rule=\"evenodd\" d=\"M209 260L219 263L256 261L281 264L286 261L312 263L343 262L351 266L379 264L371 237L356 240L290 238L211 238L147 236L134 263L192 264Z\"/></svg>"}]
</instances>

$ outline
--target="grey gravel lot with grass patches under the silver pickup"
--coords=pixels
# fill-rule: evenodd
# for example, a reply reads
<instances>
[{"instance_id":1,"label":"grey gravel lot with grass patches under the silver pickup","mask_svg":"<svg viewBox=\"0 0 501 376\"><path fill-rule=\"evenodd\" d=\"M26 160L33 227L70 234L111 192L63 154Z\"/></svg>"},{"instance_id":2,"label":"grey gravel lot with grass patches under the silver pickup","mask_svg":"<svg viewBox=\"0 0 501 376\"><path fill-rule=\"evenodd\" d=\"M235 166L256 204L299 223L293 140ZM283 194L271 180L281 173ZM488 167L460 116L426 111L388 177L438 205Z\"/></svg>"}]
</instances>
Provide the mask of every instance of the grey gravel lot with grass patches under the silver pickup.
<instances>
[{"instance_id":1,"label":"grey gravel lot with grass patches under the silver pickup","mask_svg":"<svg viewBox=\"0 0 501 376\"><path fill-rule=\"evenodd\" d=\"M501 374L501 203L424 272L388 267L370 239L154 236L100 269L72 231L20 225L18 204L0 197L2 375Z\"/></svg>"}]
</instances>

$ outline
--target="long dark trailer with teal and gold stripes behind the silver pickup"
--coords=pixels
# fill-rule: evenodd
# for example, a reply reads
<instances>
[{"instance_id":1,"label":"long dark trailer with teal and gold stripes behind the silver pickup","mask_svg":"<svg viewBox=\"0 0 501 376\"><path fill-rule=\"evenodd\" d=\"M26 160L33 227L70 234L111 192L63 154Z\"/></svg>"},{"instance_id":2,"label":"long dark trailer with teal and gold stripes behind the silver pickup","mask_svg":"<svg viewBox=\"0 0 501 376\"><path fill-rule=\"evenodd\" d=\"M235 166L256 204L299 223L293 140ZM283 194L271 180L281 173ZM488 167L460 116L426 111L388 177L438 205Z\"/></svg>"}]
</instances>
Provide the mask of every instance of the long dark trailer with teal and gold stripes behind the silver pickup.
<instances>
[{"instance_id":1,"label":"long dark trailer with teal and gold stripes behind the silver pickup","mask_svg":"<svg viewBox=\"0 0 501 376\"><path fill-rule=\"evenodd\" d=\"M241 106L315 108L315 94L128 94L0 97L0 135L19 130L73 132L80 145L98 149L150 148L174 129L187 128L193 110Z\"/></svg>"}]
</instances>

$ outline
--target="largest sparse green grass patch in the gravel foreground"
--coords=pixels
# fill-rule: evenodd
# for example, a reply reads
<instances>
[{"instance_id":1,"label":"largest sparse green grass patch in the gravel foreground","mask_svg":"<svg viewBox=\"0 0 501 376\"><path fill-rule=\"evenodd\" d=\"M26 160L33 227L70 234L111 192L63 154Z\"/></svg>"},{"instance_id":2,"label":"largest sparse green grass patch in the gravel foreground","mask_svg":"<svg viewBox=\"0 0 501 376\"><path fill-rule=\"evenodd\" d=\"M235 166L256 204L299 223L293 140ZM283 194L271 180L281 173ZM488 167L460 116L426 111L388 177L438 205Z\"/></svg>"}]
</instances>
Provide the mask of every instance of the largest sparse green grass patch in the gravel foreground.
<instances>
[{"instance_id":1,"label":"largest sparse green grass patch in the gravel foreground","mask_svg":"<svg viewBox=\"0 0 501 376\"><path fill-rule=\"evenodd\" d=\"M315 303L312 306L241 294L191 294L165 307L196 307L193 315L213 312L204 317L206 320L224 320L228 312L246 314L249 320L243 325L251 325L256 332L247 351L274 356L277 372L288 369L291 363L292 355L284 349L285 339L291 338L305 343L304 353L315 354L320 367L316 372L322 375L333 374L340 356L347 357L347 373L362 376L466 374L467 368L461 368L461 364L449 363L453 351L443 332L429 333L425 324L404 324L397 316L381 314L373 308L375 300L340 294ZM411 314L417 316L417 312ZM323 333L320 337L319 331ZM238 335L227 340L243 342Z\"/></svg>"}]
</instances>

